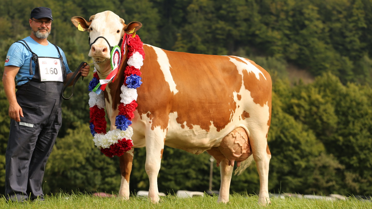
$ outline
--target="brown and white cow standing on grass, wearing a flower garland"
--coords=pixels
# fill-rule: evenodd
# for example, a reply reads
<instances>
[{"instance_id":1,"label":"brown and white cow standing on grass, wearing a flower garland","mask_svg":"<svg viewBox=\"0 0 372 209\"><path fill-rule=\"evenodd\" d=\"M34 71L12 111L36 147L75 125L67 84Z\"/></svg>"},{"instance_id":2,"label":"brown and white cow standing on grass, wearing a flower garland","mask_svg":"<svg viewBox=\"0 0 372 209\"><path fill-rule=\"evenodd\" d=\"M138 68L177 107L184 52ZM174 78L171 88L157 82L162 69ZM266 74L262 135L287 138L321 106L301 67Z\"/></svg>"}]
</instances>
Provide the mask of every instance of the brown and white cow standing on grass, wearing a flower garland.
<instances>
[{"instance_id":1,"label":"brown and white cow standing on grass, wearing a flower garland","mask_svg":"<svg viewBox=\"0 0 372 209\"><path fill-rule=\"evenodd\" d=\"M112 71L110 46L125 34L134 34L140 22L128 25L111 11L71 18L80 30L89 32L89 57L100 79ZM259 204L270 203L268 192L271 153L267 134L271 120L272 81L269 73L246 58L190 54L143 45L142 85L132 120L133 148L120 158L121 185L118 196L129 199L129 177L134 148L146 147L145 170L148 197L159 202L157 176L164 145L193 154L206 151L221 170L218 202L229 201L230 181L236 162L238 172L256 161L260 178ZM126 55L123 56L126 59ZM117 78L105 89L106 113L115 129L126 60ZM235 171L235 174L236 172Z\"/></svg>"}]
</instances>

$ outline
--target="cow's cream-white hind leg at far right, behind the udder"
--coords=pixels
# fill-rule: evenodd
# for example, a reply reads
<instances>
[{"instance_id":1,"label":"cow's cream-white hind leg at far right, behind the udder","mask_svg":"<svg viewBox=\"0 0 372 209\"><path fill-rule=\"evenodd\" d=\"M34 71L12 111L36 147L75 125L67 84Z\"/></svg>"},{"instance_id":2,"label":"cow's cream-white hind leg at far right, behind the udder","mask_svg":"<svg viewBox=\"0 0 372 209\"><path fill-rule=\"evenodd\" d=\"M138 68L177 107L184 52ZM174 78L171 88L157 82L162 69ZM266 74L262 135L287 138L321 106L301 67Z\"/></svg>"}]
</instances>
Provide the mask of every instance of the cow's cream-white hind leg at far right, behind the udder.
<instances>
[{"instance_id":1,"label":"cow's cream-white hind leg at far right, behind the udder","mask_svg":"<svg viewBox=\"0 0 372 209\"><path fill-rule=\"evenodd\" d=\"M250 143L254 161L256 161L257 171L260 177L260 194L259 204L267 205L270 203L269 199L269 162L271 153L267 145L267 132L251 131Z\"/></svg>"}]
</instances>

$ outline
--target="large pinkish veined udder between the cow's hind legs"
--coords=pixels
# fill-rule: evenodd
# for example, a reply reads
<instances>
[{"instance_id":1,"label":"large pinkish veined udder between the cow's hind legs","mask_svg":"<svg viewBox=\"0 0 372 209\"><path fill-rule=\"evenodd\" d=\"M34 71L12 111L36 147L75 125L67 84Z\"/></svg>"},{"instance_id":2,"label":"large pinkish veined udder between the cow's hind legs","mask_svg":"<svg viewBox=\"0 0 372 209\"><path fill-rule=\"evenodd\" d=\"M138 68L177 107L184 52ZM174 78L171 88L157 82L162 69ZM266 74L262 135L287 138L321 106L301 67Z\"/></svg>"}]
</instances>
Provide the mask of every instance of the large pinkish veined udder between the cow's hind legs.
<instances>
[{"instance_id":1,"label":"large pinkish veined udder between the cow's hind legs","mask_svg":"<svg viewBox=\"0 0 372 209\"><path fill-rule=\"evenodd\" d=\"M222 160L227 159L231 166L234 166L234 162L237 161L238 167L241 161L246 160L252 154L247 132L241 127L226 135L219 147L213 147L207 152L217 160L217 166Z\"/></svg>"}]
</instances>

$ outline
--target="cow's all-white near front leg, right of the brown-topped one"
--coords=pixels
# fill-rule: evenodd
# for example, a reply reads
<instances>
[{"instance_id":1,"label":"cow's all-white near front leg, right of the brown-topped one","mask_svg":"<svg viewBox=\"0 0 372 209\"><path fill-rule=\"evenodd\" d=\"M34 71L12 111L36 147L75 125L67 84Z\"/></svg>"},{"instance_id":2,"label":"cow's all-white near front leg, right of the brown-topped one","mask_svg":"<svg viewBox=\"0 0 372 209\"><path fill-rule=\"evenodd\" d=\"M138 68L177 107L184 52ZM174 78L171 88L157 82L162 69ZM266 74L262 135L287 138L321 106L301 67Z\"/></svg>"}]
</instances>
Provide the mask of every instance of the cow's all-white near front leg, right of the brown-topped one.
<instances>
[{"instance_id":1,"label":"cow's all-white near front leg, right of the brown-topped one","mask_svg":"<svg viewBox=\"0 0 372 209\"><path fill-rule=\"evenodd\" d=\"M159 202L157 178L160 170L161 158L163 157L165 137L166 131L163 131L158 127L154 130L148 131L146 134L145 170L150 182L148 197L153 203Z\"/></svg>"}]
</instances>

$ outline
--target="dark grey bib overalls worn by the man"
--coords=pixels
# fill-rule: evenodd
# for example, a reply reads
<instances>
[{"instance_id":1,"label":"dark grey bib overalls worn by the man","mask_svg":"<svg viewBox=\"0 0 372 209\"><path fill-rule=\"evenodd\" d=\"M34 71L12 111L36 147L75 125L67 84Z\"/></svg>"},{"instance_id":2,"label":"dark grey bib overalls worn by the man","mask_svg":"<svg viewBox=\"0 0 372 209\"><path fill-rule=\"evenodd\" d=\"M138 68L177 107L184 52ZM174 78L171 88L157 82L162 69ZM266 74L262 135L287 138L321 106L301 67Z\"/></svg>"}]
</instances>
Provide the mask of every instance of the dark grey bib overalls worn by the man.
<instances>
[{"instance_id":1,"label":"dark grey bib overalls worn by the man","mask_svg":"<svg viewBox=\"0 0 372 209\"><path fill-rule=\"evenodd\" d=\"M17 102L22 107L24 117L20 117L20 122L13 119L10 121L6 149L5 197L13 201L33 200L37 197L44 200L42 179L45 164L62 124L61 92L66 70L57 46L54 45L59 58L37 57L26 42L23 45L33 54L30 74L33 74L32 61L35 62L35 74L27 83L17 86ZM58 60L61 68L53 68L57 66L55 63L58 63ZM49 61L55 65L49 64ZM48 75L44 75L45 73ZM61 75L57 78L59 73Z\"/></svg>"}]
</instances>

